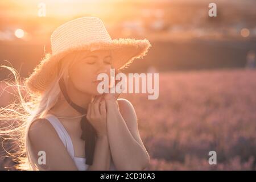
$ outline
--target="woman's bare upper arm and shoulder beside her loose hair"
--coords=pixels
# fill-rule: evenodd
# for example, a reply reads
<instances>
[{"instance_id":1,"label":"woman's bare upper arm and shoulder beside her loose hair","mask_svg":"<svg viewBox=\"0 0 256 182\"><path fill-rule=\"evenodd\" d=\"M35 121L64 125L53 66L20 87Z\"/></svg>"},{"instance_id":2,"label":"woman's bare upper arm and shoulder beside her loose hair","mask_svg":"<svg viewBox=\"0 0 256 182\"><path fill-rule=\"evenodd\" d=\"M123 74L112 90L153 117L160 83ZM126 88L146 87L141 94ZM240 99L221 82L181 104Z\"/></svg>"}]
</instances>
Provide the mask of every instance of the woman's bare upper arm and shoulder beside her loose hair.
<instances>
[{"instance_id":1,"label":"woman's bare upper arm and shoulder beside her loose hair","mask_svg":"<svg viewBox=\"0 0 256 182\"><path fill-rule=\"evenodd\" d=\"M28 130L28 137L32 146L32 154L40 168L45 170L77 170L64 144L55 129L47 119L37 119ZM38 152L46 152L46 164L38 164Z\"/></svg>"}]
</instances>

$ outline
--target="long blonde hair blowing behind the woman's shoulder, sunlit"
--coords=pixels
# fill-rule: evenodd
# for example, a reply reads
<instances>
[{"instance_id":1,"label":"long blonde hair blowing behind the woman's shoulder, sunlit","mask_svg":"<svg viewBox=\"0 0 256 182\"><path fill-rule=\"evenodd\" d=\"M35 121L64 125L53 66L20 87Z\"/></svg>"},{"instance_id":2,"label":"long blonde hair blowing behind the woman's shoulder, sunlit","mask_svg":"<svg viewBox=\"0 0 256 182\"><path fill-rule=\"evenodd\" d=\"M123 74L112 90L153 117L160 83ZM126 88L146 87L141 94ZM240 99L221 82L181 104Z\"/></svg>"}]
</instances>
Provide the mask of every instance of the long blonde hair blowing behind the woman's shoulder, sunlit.
<instances>
[{"instance_id":1,"label":"long blonde hair blowing behind the woman's shoulder, sunlit","mask_svg":"<svg viewBox=\"0 0 256 182\"><path fill-rule=\"evenodd\" d=\"M65 61L63 61L64 59ZM14 146L18 147L17 150L15 148L9 149L10 151L14 150L14 152L9 152L3 147L7 152L7 157L13 158L14 162L18 163L14 166L15 169L42 170L42 168L33 163L36 160L32 155L31 144L28 139L28 129L32 122L38 118L43 118L59 100L61 92L58 82L61 77L64 77L65 82L67 81L68 68L77 60L77 53L72 52L65 56L63 60L65 64L62 64L60 74L52 80L51 85L42 94L32 93L24 85L19 73L14 68L0 65L0 68L6 68L14 75L14 81L4 81L8 85L6 88L11 86L16 89L16 94L14 94L15 101L13 103L0 109L0 121L2 123L0 126L0 137L3 139L3 142L5 140L15 142ZM23 92L26 93L24 96ZM2 127L4 124L6 126Z\"/></svg>"}]
</instances>

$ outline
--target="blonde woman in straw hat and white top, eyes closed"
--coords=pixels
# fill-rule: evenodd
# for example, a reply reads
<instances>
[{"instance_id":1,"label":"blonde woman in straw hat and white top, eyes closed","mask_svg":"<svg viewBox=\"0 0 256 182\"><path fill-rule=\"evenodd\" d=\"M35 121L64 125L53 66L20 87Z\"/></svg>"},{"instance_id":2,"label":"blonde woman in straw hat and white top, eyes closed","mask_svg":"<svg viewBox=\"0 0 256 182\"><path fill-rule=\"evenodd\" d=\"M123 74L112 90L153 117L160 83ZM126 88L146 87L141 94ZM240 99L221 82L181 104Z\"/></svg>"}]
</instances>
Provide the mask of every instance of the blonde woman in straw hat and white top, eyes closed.
<instances>
[{"instance_id":1,"label":"blonde woman in straw hat and white top, eyes closed","mask_svg":"<svg viewBox=\"0 0 256 182\"><path fill-rule=\"evenodd\" d=\"M145 169L150 157L139 136L133 105L119 94L100 94L97 76L110 75L110 68L120 72L146 55L148 40L112 40L99 18L85 16L56 28L51 45L52 54L26 78L29 97L23 99L18 86L26 114L15 110L16 105L1 110L1 120L24 121L1 132L18 131L22 136L18 168Z\"/></svg>"}]
</instances>

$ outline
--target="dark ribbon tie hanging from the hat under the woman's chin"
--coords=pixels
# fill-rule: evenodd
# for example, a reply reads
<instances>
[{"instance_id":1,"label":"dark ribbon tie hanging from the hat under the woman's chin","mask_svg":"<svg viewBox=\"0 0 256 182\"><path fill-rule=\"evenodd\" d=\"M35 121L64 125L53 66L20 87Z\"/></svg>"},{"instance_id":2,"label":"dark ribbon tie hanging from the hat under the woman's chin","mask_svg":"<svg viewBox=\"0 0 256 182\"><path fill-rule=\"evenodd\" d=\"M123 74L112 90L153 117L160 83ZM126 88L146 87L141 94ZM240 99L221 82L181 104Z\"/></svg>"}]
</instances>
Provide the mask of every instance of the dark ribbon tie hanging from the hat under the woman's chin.
<instances>
[{"instance_id":1,"label":"dark ribbon tie hanging from the hat under the woman's chin","mask_svg":"<svg viewBox=\"0 0 256 182\"><path fill-rule=\"evenodd\" d=\"M61 63L59 62L58 64L58 74L60 73L60 68L61 68ZM59 86L60 90L63 93L63 96L65 100L67 100L68 104L73 107L73 109L77 110L81 114L86 114L87 110L74 102L71 101L71 98L68 96L67 88L65 86L65 82L63 77L60 78L59 80ZM95 143L96 143L96 130L90 124L88 119L86 118L86 115L82 117L80 121L81 129L82 129L82 135L81 139L85 140L85 158L86 162L85 164L92 165L93 163L93 155L94 155L94 148L95 148Z\"/></svg>"}]
</instances>

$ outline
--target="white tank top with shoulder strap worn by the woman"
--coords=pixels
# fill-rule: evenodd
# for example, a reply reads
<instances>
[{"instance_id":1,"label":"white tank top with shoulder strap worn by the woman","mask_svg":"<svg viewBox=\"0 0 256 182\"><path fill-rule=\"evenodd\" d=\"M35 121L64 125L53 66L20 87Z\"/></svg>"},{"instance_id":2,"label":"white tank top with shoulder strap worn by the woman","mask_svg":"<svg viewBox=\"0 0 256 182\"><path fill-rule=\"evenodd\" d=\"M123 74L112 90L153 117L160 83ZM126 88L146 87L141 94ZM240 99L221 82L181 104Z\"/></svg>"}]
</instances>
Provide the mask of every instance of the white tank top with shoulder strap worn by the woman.
<instances>
[{"instance_id":1,"label":"white tank top with shoulder strap worn by the woman","mask_svg":"<svg viewBox=\"0 0 256 182\"><path fill-rule=\"evenodd\" d=\"M88 164L85 164L86 158L78 158L75 156L72 140L69 137L69 134L68 134L67 130L65 129L65 127L59 121L59 119L56 118L55 115L53 115L53 114L47 114L46 119L52 124L52 126L56 130L56 132L59 135L64 146L67 148L69 155L75 162L77 169L79 169L79 171L86 171L87 168L89 167ZM116 168L114 166L113 161L111 160L110 171L115 171L115 170L116 170Z\"/></svg>"}]
</instances>

